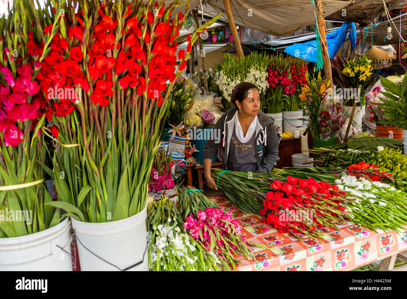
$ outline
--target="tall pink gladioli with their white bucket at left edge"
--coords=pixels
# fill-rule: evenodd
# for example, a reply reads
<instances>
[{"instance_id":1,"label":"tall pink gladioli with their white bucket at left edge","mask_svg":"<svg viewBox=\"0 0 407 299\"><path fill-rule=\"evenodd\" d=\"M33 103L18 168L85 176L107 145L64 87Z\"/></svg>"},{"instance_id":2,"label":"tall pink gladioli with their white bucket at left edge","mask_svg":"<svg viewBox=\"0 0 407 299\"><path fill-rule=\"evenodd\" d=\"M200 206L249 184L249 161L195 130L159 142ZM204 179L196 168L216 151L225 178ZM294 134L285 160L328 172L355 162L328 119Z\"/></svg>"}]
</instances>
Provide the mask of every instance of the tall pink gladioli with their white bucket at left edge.
<instances>
[{"instance_id":1,"label":"tall pink gladioli with their white bucket at left edge","mask_svg":"<svg viewBox=\"0 0 407 299\"><path fill-rule=\"evenodd\" d=\"M28 6L15 2L0 20L0 271L72 271L64 253L70 252L70 219L60 223L59 209L46 205L52 199L42 165L50 162L50 144L41 130L45 101L35 77L48 44L32 51L37 35Z\"/></svg>"}]
</instances>

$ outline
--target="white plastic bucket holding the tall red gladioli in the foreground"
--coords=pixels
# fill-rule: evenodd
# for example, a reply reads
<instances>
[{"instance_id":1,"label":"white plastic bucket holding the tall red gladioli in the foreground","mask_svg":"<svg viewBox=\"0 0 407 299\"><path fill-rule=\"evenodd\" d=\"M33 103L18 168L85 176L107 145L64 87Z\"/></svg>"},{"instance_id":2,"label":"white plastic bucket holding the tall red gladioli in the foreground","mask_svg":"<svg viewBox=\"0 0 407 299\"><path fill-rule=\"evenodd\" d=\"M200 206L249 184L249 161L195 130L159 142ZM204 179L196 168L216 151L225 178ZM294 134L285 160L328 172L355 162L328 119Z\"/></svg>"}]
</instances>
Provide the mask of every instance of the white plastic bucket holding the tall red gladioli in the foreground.
<instances>
[{"instance_id":1,"label":"white plastic bucket holding the tall red gladioli in the foreground","mask_svg":"<svg viewBox=\"0 0 407 299\"><path fill-rule=\"evenodd\" d=\"M148 271L146 218L147 206L136 215L111 222L72 219L81 271L120 271L141 261L127 271Z\"/></svg>"}]
</instances>

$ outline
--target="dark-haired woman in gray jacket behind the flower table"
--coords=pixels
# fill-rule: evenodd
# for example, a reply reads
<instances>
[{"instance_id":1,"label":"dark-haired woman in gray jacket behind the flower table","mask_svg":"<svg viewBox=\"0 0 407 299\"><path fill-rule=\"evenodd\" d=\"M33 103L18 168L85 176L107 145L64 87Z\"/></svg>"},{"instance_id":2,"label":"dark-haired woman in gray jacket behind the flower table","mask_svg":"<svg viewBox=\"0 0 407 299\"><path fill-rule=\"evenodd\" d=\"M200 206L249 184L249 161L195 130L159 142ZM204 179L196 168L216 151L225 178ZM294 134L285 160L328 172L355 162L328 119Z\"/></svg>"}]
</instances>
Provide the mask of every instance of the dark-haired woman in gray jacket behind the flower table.
<instances>
[{"instance_id":1,"label":"dark-haired woman in gray jacket behind the flower table","mask_svg":"<svg viewBox=\"0 0 407 299\"><path fill-rule=\"evenodd\" d=\"M256 85L248 82L236 85L231 102L235 108L219 118L204 147L205 178L208 187L215 190L218 188L210 175L210 167L219 143L215 143L213 134L222 134L220 145L225 148L222 168L232 171L270 172L276 163L281 139L274 119L260 111Z\"/></svg>"}]
</instances>

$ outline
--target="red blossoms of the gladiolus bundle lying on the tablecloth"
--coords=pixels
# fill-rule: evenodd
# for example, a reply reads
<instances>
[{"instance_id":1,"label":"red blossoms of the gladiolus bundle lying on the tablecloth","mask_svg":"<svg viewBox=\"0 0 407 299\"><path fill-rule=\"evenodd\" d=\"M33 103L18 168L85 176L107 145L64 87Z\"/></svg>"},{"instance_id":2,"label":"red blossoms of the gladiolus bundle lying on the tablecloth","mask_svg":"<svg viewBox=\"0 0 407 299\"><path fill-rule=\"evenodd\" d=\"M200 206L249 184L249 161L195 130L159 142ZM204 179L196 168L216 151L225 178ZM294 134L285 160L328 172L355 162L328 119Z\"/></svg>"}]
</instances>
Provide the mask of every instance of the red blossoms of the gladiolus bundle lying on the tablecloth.
<instances>
[{"instance_id":1,"label":"red blossoms of the gladiolus bundle lying on the tablecloth","mask_svg":"<svg viewBox=\"0 0 407 299\"><path fill-rule=\"evenodd\" d=\"M273 225L282 234L319 237L324 227L344 224L346 192L325 181L296 179L288 176L287 182L274 180L274 191L267 193L260 210L264 223ZM346 202L345 202L346 201Z\"/></svg>"}]
</instances>

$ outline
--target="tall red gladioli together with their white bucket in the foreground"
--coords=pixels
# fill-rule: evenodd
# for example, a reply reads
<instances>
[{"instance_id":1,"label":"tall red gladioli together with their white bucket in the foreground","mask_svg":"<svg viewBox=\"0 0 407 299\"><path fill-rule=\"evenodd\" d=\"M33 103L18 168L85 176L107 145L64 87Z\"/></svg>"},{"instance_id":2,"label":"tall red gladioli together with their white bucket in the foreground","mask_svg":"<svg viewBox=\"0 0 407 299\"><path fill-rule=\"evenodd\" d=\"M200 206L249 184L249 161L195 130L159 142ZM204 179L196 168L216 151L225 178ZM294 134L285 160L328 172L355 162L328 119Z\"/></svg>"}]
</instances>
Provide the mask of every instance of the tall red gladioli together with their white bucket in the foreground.
<instances>
[{"instance_id":1,"label":"tall red gladioli together with their white bucket in the foreground","mask_svg":"<svg viewBox=\"0 0 407 299\"><path fill-rule=\"evenodd\" d=\"M53 27L37 23L45 35L57 31L41 62L42 92L77 91L46 99L61 144L59 201L48 204L71 217L83 271L148 270L146 196L168 96L199 33L219 17L188 35L177 59L188 5L184 15L171 13L181 4L84 0L74 11L53 2L63 17ZM37 20L48 9L39 8Z\"/></svg>"}]
</instances>

